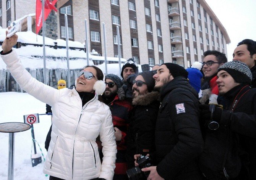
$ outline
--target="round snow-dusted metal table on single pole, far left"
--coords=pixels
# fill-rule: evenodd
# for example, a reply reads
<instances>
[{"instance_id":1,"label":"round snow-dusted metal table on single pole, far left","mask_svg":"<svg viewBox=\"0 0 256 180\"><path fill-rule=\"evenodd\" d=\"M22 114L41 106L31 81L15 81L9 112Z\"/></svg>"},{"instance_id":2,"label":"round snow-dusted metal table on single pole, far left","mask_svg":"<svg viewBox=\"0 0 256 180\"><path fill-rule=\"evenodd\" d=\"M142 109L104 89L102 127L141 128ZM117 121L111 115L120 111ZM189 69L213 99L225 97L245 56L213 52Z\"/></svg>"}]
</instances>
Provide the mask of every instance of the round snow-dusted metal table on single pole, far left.
<instances>
[{"instance_id":1,"label":"round snow-dusted metal table on single pole, far left","mask_svg":"<svg viewBox=\"0 0 256 180\"><path fill-rule=\"evenodd\" d=\"M0 132L9 133L9 156L8 156L8 180L13 180L13 160L14 160L14 141L15 132L23 132L29 130L31 126L23 122L5 122L0 123Z\"/></svg>"}]
</instances>

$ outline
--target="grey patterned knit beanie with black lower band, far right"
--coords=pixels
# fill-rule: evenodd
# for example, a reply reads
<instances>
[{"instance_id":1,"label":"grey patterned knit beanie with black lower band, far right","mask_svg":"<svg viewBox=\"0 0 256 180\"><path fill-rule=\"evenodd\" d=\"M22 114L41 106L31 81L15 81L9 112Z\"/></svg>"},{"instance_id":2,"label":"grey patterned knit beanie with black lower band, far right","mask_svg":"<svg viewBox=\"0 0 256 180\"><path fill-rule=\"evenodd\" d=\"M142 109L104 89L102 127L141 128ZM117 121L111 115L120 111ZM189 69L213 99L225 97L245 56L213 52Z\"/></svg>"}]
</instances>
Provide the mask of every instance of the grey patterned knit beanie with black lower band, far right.
<instances>
[{"instance_id":1,"label":"grey patterned knit beanie with black lower band, far right","mask_svg":"<svg viewBox=\"0 0 256 180\"><path fill-rule=\"evenodd\" d=\"M221 70L228 72L235 82L241 84L251 84L251 80L253 79L249 67L240 61L229 61L224 63L219 67L218 72Z\"/></svg>"}]
</instances>

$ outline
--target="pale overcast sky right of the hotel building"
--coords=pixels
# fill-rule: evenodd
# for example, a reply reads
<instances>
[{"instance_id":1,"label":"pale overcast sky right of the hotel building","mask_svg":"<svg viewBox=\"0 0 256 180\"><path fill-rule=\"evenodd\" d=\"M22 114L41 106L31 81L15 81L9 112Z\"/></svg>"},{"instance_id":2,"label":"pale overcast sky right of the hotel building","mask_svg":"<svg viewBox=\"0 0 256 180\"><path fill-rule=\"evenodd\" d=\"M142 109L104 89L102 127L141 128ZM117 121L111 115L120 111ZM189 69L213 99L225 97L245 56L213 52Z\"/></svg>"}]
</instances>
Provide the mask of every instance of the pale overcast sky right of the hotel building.
<instances>
[{"instance_id":1,"label":"pale overcast sky right of the hotel building","mask_svg":"<svg viewBox=\"0 0 256 180\"><path fill-rule=\"evenodd\" d=\"M256 0L205 0L225 27L231 43L227 45L231 61L237 43L243 39L256 41Z\"/></svg>"}]
</instances>

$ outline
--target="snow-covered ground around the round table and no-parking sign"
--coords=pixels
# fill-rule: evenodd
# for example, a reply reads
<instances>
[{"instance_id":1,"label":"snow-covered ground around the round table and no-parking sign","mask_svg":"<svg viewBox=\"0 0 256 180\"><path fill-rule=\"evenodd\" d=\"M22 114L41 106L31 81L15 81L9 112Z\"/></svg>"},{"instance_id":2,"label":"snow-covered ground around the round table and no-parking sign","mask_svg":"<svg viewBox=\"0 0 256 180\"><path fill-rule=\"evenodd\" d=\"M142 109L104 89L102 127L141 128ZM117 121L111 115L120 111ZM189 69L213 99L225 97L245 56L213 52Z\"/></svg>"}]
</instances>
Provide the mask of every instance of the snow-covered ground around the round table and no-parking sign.
<instances>
[{"instance_id":1,"label":"snow-covered ground around the round table and no-parking sign","mask_svg":"<svg viewBox=\"0 0 256 180\"><path fill-rule=\"evenodd\" d=\"M0 123L24 122L23 115L44 114L45 103L28 95L27 93L5 92L0 93ZM38 124L34 124L35 139L42 148L44 156L47 151L44 148L44 141L51 125L51 117L48 115L39 116ZM0 132L0 180L8 178L8 142L9 133ZM14 180L48 180L49 176L43 173L44 160L42 164L32 167L31 163L32 137L31 129L15 133L14 153ZM40 149L37 146L37 153Z\"/></svg>"}]
</instances>

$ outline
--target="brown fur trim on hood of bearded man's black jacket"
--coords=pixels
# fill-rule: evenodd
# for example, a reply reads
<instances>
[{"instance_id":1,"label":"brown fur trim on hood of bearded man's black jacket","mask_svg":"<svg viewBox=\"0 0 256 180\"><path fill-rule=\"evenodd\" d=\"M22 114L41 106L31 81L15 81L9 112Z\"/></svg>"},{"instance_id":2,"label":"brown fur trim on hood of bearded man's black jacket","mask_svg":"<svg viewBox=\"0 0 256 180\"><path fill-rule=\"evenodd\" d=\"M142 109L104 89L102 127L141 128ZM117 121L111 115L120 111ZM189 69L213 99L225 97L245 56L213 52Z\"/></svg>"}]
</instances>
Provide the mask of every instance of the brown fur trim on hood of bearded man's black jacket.
<instances>
[{"instance_id":1,"label":"brown fur trim on hood of bearded man's black jacket","mask_svg":"<svg viewBox=\"0 0 256 180\"><path fill-rule=\"evenodd\" d=\"M146 93L144 95L139 95L137 97L133 98L133 105L141 105L141 106L147 106L151 104L153 101L159 101L159 92L152 91L150 93Z\"/></svg>"}]
</instances>

